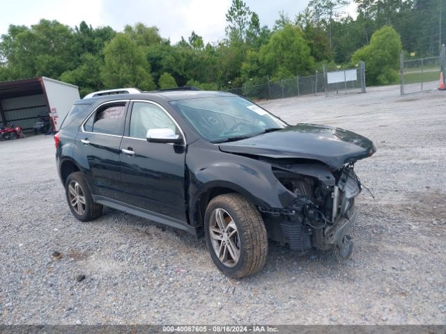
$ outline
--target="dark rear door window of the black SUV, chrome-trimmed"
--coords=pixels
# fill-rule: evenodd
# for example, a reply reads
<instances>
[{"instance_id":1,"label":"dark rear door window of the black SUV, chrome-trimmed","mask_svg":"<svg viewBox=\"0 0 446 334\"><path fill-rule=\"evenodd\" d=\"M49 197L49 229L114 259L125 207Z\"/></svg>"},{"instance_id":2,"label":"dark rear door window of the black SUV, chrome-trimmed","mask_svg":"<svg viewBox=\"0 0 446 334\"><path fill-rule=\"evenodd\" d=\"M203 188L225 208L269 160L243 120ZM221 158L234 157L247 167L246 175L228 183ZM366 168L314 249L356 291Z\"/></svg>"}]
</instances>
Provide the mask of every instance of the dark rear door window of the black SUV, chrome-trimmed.
<instances>
[{"instance_id":1,"label":"dark rear door window of the black SUV, chrome-trimmed","mask_svg":"<svg viewBox=\"0 0 446 334\"><path fill-rule=\"evenodd\" d=\"M106 104L99 108L84 125L86 132L122 136L124 131L125 102Z\"/></svg>"}]
</instances>

